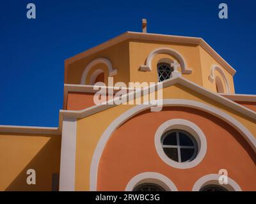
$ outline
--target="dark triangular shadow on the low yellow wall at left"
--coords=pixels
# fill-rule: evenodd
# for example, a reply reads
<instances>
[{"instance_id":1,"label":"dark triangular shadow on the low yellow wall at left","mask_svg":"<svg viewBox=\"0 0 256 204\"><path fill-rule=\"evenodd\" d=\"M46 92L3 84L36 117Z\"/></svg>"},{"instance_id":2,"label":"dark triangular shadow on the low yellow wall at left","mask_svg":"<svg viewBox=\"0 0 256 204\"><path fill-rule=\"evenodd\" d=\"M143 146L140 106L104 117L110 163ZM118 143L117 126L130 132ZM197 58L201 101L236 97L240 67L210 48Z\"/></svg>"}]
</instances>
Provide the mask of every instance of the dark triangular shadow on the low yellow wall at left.
<instances>
[{"instance_id":1,"label":"dark triangular shadow on the low yellow wall at left","mask_svg":"<svg viewBox=\"0 0 256 204\"><path fill-rule=\"evenodd\" d=\"M52 191L52 178L60 173L61 136L51 136L51 139L42 147L5 191ZM27 170L36 171L36 184L28 185ZM55 174L55 175L54 175ZM58 178L57 178L58 179ZM58 180L55 181L58 185ZM58 189L58 186L53 186Z\"/></svg>"}]
</instances>

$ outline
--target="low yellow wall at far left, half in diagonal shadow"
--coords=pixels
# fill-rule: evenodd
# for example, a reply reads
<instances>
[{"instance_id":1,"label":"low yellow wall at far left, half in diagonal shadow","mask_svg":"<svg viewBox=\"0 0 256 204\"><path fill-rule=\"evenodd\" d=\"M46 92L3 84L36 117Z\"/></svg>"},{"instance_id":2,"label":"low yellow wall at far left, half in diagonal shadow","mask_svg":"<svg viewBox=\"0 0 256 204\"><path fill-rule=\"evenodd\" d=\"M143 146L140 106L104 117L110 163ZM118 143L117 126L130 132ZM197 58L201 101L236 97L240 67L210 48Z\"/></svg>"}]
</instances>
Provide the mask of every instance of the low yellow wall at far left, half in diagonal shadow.
<instances>
[{"instance_id":1,"label":"low yellow wall at far left, half in diagonal shadow","mask_svg":"<svg viewBox=\"0 0 256 204\"><path fill-rule=\"evenodd\" d=\"M0 133L0 191L51 191L60 149L60 135ZM28 169L36 171L36 185L26 183Z\"/></svg>"}]
</instances>

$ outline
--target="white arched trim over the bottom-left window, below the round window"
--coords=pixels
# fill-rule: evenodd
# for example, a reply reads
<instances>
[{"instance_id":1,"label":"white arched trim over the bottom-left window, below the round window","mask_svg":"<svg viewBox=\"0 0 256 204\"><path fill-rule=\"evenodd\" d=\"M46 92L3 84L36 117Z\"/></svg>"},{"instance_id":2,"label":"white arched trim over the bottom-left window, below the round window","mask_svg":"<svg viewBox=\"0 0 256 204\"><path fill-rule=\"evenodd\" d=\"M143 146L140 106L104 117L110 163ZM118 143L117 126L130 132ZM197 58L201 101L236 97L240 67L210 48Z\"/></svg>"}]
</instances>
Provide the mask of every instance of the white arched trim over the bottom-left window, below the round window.
<instances>
[{"instance_id":1,"label":"white arched trim over the bottom-left window, below the round window","mask_svg":"<svg viewBox=\"0 0 256 204\"><path fill-rule=\"evenodd\" d=\"M134 187L144 183L157 184L165 191L178 191L175 184L168 177L156 172L143 172L134 176L125 187L125 191L132 191Z\"/></svg>"}]
</instances>

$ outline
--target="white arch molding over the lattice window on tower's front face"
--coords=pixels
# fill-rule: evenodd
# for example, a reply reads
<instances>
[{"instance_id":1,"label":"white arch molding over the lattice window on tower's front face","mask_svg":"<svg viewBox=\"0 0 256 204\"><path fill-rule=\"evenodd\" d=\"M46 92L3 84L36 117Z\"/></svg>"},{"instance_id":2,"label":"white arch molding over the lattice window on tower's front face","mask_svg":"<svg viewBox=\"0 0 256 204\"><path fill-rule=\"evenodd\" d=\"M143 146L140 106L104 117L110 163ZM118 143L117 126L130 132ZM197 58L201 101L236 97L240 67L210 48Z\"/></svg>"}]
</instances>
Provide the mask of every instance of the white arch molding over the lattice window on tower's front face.
<instances>
[{"instance_id":1,"label":"white arch molding over the lattice window on tower's front face","mask_svg":"<svg viewBox=\"0 0 256 204\"><path fill-rule=\"evenodd\" d=\"M157 54L168 54L168 55L175 57L180 63L180 68L181 68L182 73L184 73L184 74L192 73L193 69L189 69L187 67L184 57L182 57L182 55L179 54L179 52L177 52L171 48L157 48L156 50L153 50L152 52L150 52L150 54L147 57L146 64L140 66L141 71L152 71L152 59Z\"/></svg>"}]
</instances>

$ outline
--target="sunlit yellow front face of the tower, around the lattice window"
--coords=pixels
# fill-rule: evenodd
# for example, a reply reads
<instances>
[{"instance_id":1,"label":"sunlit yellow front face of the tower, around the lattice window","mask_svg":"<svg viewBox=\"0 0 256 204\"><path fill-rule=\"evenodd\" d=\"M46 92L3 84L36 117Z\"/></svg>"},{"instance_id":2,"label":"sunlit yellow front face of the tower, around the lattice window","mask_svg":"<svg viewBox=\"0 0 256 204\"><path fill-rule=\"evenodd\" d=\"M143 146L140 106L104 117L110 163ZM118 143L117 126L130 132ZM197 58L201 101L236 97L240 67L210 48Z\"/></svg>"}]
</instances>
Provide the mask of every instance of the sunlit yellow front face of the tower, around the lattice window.
<instances>
[{"instance_id":1,"label":"sunlit yellow front face of the tower, around the lattice window","mask_svg":"<svg viewBox=\"0 0 256 204\"><path fill-rule=\"evenodd\" d=\"M199 47L197 45L157 43L152 41L130 41L131 82L158 82L157 62L163 58L173 60L174 58L172 56L168 54L158 54L152 59L152 71L140 71L140 66L145 64L150 52L157 48L172 48L179 52L184 57L188 68L193 69L192 74L183 74L182 77L187 78L198 85L203 85ZM178 61L177 59L175 60Z\"/></svg>"}]
</instances>

